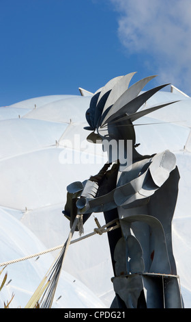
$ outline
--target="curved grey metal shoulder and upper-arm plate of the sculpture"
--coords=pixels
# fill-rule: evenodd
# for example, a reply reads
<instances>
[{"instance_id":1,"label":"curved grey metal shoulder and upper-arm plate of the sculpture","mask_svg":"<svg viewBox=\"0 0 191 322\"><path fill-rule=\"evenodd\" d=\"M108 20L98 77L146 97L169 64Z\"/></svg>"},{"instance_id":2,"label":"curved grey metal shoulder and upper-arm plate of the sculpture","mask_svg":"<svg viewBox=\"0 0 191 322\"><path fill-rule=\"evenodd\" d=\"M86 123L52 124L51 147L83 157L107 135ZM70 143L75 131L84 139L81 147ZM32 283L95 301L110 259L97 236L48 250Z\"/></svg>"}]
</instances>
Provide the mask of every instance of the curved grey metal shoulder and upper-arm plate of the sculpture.
<instances>
[{"instance_id":1,"label":"curved grey metal shoulder and upper-arm plate of the sculpture","mask_svg":"<svg viewBox=\"0 0 191 322\"><path fill-rule=\"evenodd\" d=\"M166 150L152 158L133 164L131 171L122 173L114 193L117 206L141 206L149 201L175 169L176 158ZM143 201L145 199L145 201Z\"/></svg>"}]
</instances>

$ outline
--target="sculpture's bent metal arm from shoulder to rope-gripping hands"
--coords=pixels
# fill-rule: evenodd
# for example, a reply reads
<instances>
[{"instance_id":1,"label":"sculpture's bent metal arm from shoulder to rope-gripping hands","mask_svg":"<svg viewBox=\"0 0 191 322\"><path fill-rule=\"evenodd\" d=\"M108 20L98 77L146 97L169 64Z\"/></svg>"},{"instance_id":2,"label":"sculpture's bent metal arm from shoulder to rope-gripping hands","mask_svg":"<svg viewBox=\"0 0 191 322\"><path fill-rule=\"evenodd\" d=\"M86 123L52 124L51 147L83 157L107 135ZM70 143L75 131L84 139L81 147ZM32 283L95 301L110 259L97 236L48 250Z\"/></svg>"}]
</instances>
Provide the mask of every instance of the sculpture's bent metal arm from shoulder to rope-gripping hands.
<instances>
[{"instance_id":1,"label":"sculpture's bent metal arm from shoulder to rope-gripping hands","mask_svg":"<svg viewBox=\"0 0 191 322\"><path fill-rule=\"evenodd\" d=\"M134 206L141 206L141 199L147 202L149 197L166 182L171 171L175 169L175 162L174 154L166 150L152 158L147 171L102 197L96 197L98 183L91 180L87 180L85 184L74 182L68 186L68 193L73 194L76 213L85 214L87 218L92 212L104 212L118 206L128 208L128 205L132 203Z\"/></svg>"}]
</instances>

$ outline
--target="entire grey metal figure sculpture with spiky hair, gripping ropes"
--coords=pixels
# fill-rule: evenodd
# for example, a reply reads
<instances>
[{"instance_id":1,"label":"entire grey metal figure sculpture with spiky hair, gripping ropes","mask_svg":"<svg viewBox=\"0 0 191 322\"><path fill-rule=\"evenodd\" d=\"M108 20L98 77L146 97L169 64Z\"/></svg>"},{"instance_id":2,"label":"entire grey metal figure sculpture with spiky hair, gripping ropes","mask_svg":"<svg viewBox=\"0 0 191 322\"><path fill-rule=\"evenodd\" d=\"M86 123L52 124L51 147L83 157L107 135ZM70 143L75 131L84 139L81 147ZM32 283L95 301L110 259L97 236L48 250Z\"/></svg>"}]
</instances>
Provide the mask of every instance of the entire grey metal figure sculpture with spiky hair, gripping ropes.
<instances>
[{"instance_id":1,"label":"entire grey metal figure sculpture with spiky hair, gripping ropes","mask_svg":"<svg viewBox=\"0 0 191 322\"><path fill-rule=\"evenodd\" d=\"M119 219L120 227L108 232L116 295L111 308L182 308L171 238L179 183L175 156L168 150L139 154L132 123L175 102L138 111L168 84L141 92L155 76L128 87L133 75L111 79L91 98L85 129L92 132L87 139L104 149L108 143L108 163L85 182L68 186L63 213L71 225L76 214L83 214L83 223L92 212L104 212L106 223ZM112 140L117 143L115 153Z\"/></svg>"}]
</instances>

